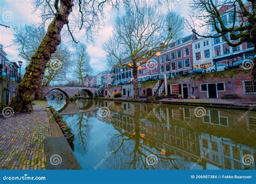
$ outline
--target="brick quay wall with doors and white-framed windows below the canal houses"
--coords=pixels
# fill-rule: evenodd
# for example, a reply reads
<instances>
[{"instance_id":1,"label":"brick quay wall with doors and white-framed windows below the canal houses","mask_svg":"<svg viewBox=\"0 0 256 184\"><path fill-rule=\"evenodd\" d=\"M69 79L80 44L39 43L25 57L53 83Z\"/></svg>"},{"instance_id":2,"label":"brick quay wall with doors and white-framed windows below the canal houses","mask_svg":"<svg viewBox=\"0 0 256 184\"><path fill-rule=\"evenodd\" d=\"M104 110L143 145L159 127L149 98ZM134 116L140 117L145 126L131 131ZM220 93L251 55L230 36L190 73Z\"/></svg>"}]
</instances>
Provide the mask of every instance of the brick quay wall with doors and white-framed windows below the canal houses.
<instances>
[{"instance_id":1,"label":"brick quay wall with doors and white-framed windows below the canal houses","mask_svg":"<svg viewBox=\"0 0 256 184\"><path fill-rule=\"evenodd\" d=\"M220 99L231 98L251 100L256 98L256 93L249 89L251 88L252 90L253 88L250 86L250 81L253 85L253 77L251 73L252 70L239 68L224 72L197 74L167 79L167 95L180 94L182 98L188 99L212 99L211 95L213 95ZM150 97L157 82L158 81L155 80L139 83L139 96L145 98ZM247 91L248 89L249 92ZM122 97L133 97L133 84L106 87L103 91L103 97L113 97L113 94L116 91L120 91Z\"/></svg>"}]
</instances>

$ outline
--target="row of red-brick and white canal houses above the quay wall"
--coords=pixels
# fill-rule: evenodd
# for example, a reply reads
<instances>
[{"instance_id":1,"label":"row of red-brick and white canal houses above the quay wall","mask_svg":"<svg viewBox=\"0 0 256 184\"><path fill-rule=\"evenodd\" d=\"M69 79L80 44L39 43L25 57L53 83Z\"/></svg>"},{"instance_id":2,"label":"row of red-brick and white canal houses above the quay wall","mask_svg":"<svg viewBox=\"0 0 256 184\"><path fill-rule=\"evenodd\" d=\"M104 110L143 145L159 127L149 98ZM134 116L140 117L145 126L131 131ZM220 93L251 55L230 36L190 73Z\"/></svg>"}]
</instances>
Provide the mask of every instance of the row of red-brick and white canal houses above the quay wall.
<instances>
[{"instance_id":1,"label":"row of red-brick and white canal houses above the quay wall","mask_svg":"<svg viewBox=\"0 0 256 184\"><path fill-rule=\"evenodd\" d=\"M219 9L222 19L226 26L233 25L233 13L231 11L233 6L222 6ZM252 6L247 4L248 11L252 12ZM238 26L240 20L235 20L235 25ZM211 35L217 36L218 33L211 27ZM230 34L225 35L231 40ZM232 41L232 40L231 40ZM233 40L235 43L238 40ZM180 38L170 44L165 52L153 58L157 65L154 68L149 67L149 63L144 63L139 66L138 78L156 77L166 74L170 77L171 74L184 74L195 68L208 68L215 63L227 63L248 58L248 56L255 55L254 47L251 43L242 43L237 47L228 46L226 41L219 38L199 38L196 34ZM125 58L124 63L129 63L130 58ZM112 70L111 84L118 85L131 81L132 70L129 68ZM108 83L109 84L109 83Z\"/></svg>"}]
</instances>

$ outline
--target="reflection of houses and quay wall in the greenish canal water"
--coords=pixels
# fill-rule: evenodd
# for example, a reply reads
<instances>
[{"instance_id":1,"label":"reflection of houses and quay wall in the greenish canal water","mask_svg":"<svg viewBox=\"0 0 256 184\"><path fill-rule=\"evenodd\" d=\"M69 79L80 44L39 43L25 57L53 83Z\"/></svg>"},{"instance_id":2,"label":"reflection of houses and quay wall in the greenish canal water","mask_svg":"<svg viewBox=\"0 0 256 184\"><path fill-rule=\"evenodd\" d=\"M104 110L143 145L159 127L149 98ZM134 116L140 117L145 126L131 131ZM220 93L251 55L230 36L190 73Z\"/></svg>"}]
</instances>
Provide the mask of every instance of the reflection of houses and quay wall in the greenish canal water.
<instances>
[{"instance_id":1,"label":"reflection of houses and quay wall in the greenish canal water","mask_svg":"<svg viewBox=\"0 0 256 184\"><path fill-rule=\"evenodd\" d=\"M207 109L205 116L196 118L194 108L161 105L154 109L153 105L139 104L139 112L136 112L134 104L129 102L103 101L102 105L109 107L111 114L102 118L96 113L97 118L111 122L114 128L119 132L125 131L127 135L132 135L135 127L139 126L146 139L157 147L165 148L166 154L187 162L186 169L207 150L208 154L199 162L204 169L208 166L255 169L254 163L250 166L242 164L242 157L246 154L255 158L253 115L238 123L241 112L235 111ZM138 122L134 121L136 117Z\"/></svg>"}]
</instances>

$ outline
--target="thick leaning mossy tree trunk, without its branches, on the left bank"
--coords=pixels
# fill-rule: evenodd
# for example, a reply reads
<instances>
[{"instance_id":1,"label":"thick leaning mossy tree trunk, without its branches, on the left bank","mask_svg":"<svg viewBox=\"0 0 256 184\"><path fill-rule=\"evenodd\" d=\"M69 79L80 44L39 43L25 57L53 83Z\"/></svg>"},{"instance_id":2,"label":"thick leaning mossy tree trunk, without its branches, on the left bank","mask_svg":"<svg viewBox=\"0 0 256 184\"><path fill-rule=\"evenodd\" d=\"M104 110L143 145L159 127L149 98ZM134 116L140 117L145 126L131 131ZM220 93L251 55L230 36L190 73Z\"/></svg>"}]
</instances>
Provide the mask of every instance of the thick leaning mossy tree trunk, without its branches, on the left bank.
<instances>
[{"instance_id":1,"label":"thick leaning mossy tree trunk, without its branches, on the left bank","mask_svg":"<svg viewBox=\"0 0 256 184\"><path fill-rule=\"evenodd\" d=\"M32 100L42 86L46 62L50 60L51 54L55 53L60 44L60 31L68 23L68 17L72 11L73 0L60 1L60 8L53 18L44 39L32 56L22 82L18 86L17 94L11 101L11 107L15 112L31 112Z\"/></svg>"}]
</instances>

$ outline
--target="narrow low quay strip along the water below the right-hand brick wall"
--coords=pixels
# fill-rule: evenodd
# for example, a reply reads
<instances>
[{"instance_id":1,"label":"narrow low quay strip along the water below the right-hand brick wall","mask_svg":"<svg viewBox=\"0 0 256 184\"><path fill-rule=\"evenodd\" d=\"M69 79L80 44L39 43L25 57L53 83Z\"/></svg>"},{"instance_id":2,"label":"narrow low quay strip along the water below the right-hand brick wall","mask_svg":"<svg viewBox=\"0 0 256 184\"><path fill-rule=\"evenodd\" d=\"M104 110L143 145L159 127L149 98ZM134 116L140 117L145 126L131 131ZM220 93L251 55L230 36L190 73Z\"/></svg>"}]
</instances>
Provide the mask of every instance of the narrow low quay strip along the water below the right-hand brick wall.
<instances>
[{"instance_id":1,"label":"narrow low quay strip along the water below the right-hand brick wall","mask_svg":"<svg viewBox=\"0 0 256 184\"><path fill-rule=\"evenodd\" d=\"M153 100L149 98L112 98L101 97L98 100L112 100L112 101L127 101L127 102L143 102L143 103L164 103L173 105L191 105L196 107L211 107L211 108L228 108L228 109L249 109L256 111L256 99L220 99L220 98L207 98L207 99L160 99Z\"/></svg>"}]
</instances>

